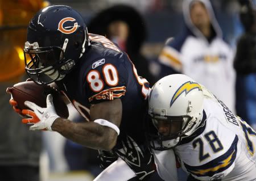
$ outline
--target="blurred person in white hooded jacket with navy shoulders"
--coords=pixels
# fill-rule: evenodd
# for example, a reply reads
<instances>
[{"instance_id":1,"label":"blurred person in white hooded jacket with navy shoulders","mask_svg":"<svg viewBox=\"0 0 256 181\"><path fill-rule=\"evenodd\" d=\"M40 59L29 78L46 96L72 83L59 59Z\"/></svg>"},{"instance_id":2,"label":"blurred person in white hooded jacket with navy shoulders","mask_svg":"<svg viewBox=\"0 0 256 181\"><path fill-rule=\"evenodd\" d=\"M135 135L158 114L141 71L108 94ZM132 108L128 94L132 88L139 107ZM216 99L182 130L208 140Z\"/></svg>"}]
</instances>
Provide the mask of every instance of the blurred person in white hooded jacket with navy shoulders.
<instances>
[{"instance_id":1,"label":"blurred person in white hooded jacket with navy shoulders","mask_svg":"<svg viewBox=\"0 0 256 181\"><path fill-rule=\"evenodd\" d=\"M160 77L183 73L208 87L234 111L233 51L222 32L208 0L183 2L185 27L167 43L159 61L167 65Z\"/></svg>"}]
</instances>

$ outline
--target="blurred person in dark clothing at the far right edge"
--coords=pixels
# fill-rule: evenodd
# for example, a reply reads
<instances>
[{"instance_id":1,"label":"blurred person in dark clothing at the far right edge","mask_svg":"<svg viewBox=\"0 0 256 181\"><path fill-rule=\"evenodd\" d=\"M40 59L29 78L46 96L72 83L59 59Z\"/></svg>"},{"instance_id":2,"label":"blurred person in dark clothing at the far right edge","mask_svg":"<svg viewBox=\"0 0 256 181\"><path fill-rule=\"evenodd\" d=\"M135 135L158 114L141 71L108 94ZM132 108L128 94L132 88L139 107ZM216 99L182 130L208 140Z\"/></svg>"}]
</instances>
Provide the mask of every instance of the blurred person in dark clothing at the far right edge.
<instances>
[{"instance_id":1,"label":"blurred person in dark clothing at the far right edge","mask_svg":"<svg viewBox=\"0 0 256 181\"><path fill-rule=\"evenodd\" d=\"M240 19L245 32L237 43L234 68L237 115L256 129L256 11L252 5L250 1L241 1Z\"/></svg>"}]
</instances>

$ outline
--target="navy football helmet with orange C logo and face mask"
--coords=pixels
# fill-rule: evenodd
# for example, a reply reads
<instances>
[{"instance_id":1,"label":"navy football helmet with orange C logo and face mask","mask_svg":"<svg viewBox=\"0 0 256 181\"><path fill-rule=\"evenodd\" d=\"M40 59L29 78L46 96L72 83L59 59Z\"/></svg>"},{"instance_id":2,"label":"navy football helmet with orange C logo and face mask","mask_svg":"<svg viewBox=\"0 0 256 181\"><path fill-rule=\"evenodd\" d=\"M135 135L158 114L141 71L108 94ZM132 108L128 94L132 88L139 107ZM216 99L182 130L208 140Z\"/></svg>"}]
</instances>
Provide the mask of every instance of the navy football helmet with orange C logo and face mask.
<instances>
[{"instance_id":1,"label":"navy football helmet with orange C logo and face mask","mask_svg":"<svg viewBox=\"0 0 256 181\"><path fill-rule=\"evenodd\" d=\"M26 72L40 85L60 81L89 45L82 16L69 6L48 6L30 21L24 47ZM27 60L30 56L31 60Z\"/></svg>"}]
</instances>

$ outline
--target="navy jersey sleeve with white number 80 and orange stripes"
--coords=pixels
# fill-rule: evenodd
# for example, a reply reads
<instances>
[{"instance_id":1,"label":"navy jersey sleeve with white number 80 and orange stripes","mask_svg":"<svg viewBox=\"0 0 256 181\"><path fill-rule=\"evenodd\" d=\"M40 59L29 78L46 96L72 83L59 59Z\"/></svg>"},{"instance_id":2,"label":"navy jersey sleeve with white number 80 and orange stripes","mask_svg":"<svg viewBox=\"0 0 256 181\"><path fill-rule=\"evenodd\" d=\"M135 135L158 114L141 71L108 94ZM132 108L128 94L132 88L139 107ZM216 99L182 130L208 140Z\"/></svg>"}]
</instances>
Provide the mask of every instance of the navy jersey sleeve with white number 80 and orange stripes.
<instances>
[{"instance_id":1,"label":"navy jersey sleeve with white number 80 and orange stripes","mask_svg":"<svg viewBox=\"0 0 256 181\"><path fill-rule=\"evenodd\" d=\"M121 59L98 58L86 73L85 91L90 104L121 98L125 95L126 85L127 70Z\"/></svg>"}]
</instances>

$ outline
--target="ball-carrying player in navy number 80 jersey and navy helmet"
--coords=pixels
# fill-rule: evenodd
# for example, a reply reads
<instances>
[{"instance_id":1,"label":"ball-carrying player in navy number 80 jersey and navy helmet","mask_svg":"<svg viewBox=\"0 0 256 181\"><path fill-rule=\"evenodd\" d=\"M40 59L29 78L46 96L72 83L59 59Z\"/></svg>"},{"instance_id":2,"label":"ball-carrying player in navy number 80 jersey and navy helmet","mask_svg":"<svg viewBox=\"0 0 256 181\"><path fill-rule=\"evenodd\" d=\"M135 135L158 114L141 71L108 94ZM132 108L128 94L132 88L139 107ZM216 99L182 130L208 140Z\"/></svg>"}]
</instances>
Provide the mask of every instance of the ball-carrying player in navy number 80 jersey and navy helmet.
<instances>
[{"instance_id":1,"label":"ball-carrying player in navy number 80 jersey and navy helmet","mask_svg":"<svg viewBox=\"0 0 256 181\"><path fill-rule=\"evenodd\" d=\"M117 161L95 180L143 180L154 172L143 131L149 85L117 45L88 33L82 16L71 7L49 6L28 26L24 58L30 78L39 85L55 82L85 122L59 117L49 94L46 108L25 102L33 111L22 110L30 116L23 123L117 154Z\"/></svg>"}]
</instances>

